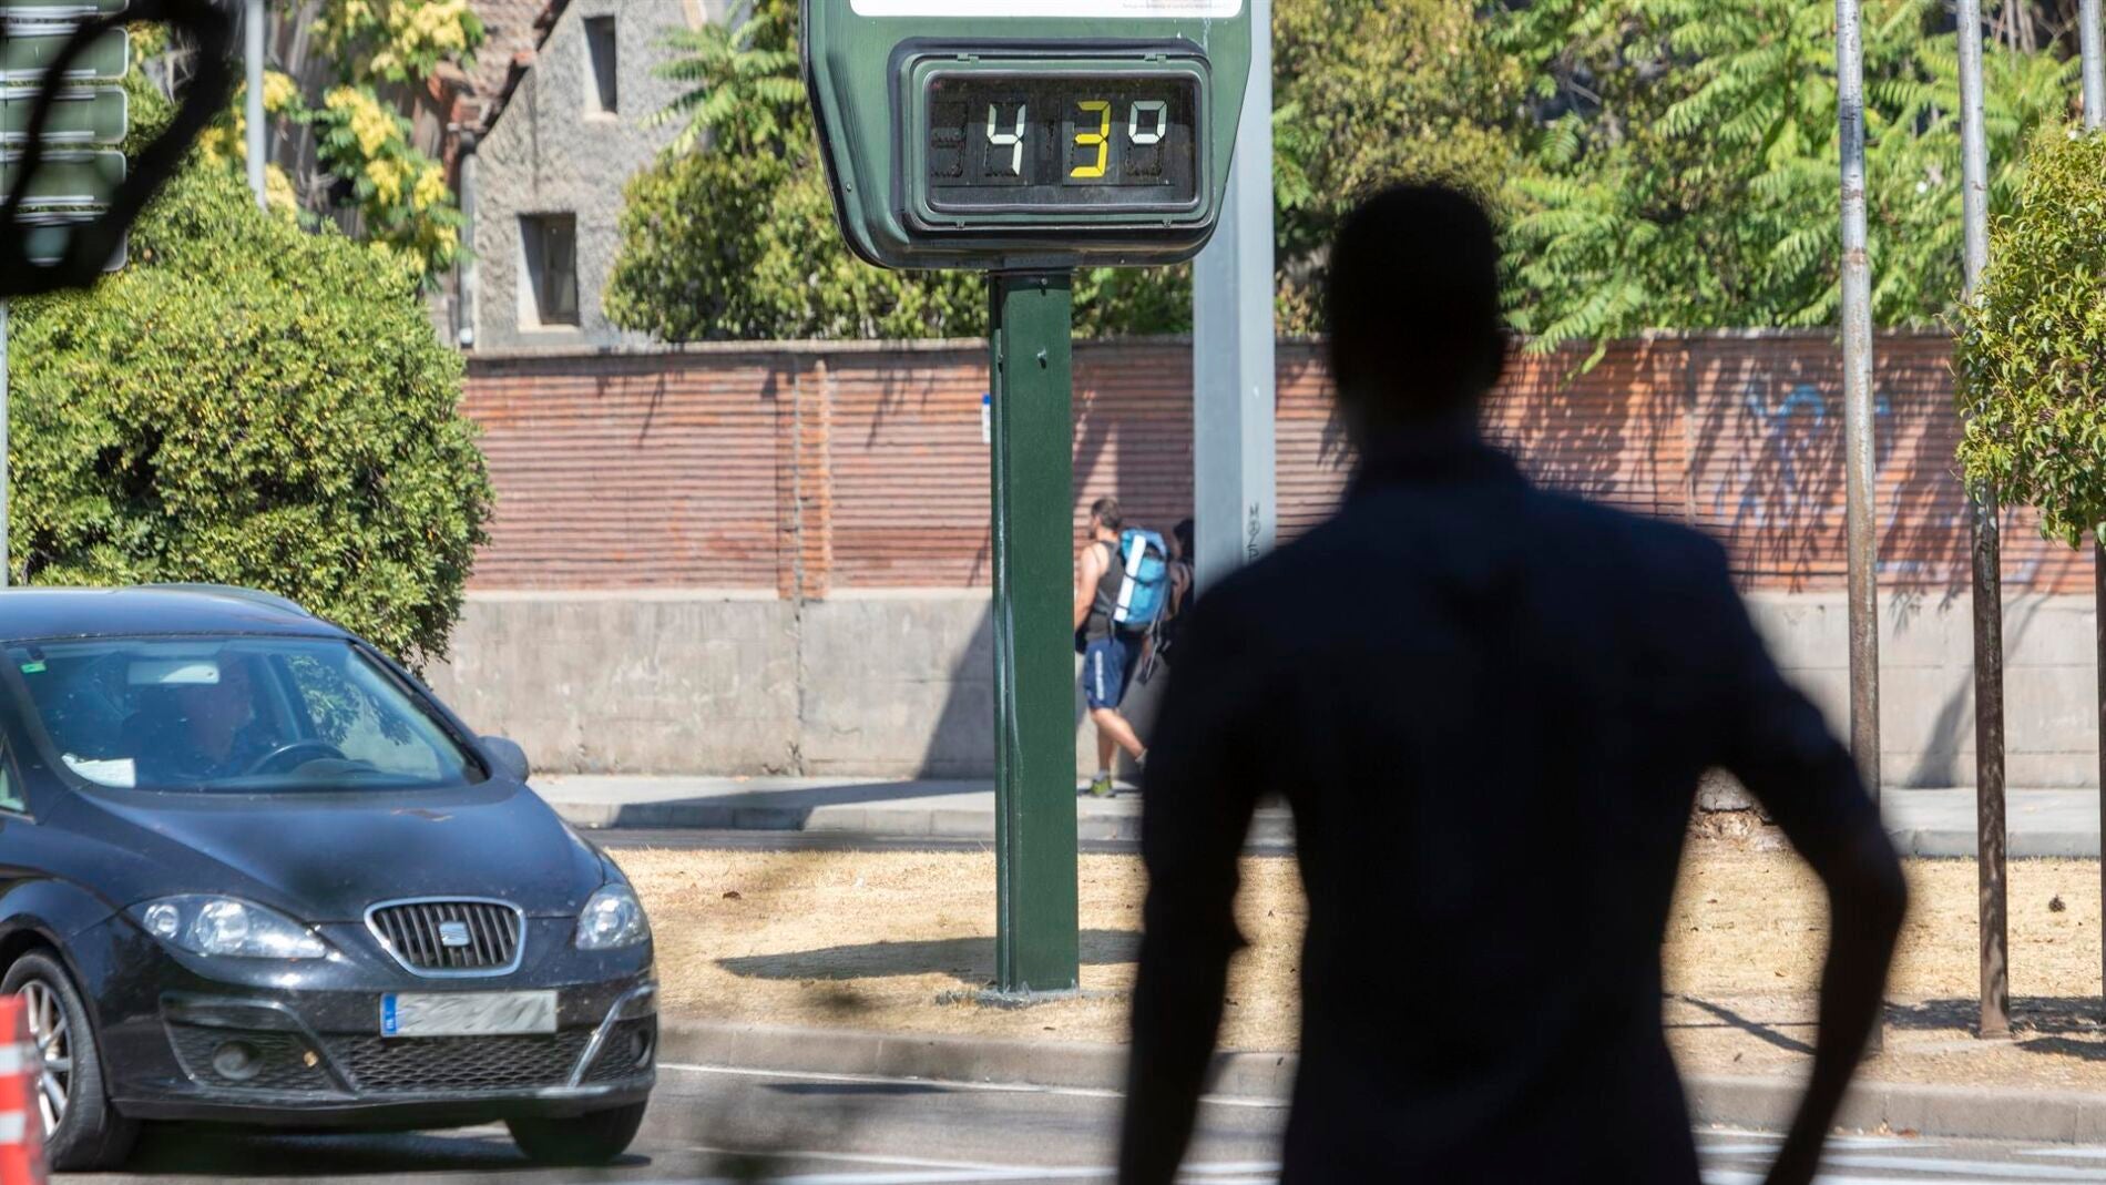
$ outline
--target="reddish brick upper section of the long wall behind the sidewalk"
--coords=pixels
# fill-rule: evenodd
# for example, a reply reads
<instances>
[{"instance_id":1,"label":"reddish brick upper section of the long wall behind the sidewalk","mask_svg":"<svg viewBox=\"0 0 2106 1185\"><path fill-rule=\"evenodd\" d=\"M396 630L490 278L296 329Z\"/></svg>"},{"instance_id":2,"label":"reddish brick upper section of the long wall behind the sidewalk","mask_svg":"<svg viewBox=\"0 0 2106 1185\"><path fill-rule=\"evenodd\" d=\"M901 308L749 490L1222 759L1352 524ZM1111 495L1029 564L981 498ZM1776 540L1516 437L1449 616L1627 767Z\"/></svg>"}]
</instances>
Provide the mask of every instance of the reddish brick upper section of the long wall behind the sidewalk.
<instances>
[{"instance_id":1,"label":"reddish brick upper section of the long wall behind the sidewalk","mask_svg":"<svg viewBox=\"0 0 2106 1185\"><path fill-rule=\"evenodd\" d=\"M1491 431L1537 480L1704 528L1748 589L1843 581L1841 358L1826 335L1657 337L1525 356ZM497 480L480 589L832 589L990 581L977 343L480 356L468 415ZM1169 526L1192 503L1192 362L1175 341L1076 345L1076 530L1118 495ZM1967 583L1942 337L1879 352L1881 581ZM1283 535L1350 457L1320 347L1280 343ZM2089 560L2009 516L2013 591L2089 589Z\"/></svg>"}]
</instances>

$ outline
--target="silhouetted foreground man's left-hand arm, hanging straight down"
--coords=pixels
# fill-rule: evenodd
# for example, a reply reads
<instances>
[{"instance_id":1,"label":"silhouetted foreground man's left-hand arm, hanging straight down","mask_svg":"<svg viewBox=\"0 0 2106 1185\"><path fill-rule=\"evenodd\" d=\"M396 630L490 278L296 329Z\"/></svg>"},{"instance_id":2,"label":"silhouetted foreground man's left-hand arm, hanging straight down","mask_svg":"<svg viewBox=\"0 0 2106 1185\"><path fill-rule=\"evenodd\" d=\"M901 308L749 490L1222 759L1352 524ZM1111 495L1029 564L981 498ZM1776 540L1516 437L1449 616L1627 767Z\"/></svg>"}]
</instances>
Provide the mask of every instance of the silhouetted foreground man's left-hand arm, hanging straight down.
<instances>
[{"instance_id":1,"label":"silhouetted foreground man's left-hand arm, hanging straight down","mask_svg":"<svg viewBox=\"0 0 2106 1185\"><path fill-rule=\"evenodd\" d=\"M1236 861L1264 779L1249 747L1259 735L1253 692L1261 676L1245 642L1209 612L1209 602L1194 606L1148 749L1148 907L1133 985L1120 1185L1169 1185L1177 1177L1221 1027L1228 960L1243 945Z\"/></svg>"}]
</instances>

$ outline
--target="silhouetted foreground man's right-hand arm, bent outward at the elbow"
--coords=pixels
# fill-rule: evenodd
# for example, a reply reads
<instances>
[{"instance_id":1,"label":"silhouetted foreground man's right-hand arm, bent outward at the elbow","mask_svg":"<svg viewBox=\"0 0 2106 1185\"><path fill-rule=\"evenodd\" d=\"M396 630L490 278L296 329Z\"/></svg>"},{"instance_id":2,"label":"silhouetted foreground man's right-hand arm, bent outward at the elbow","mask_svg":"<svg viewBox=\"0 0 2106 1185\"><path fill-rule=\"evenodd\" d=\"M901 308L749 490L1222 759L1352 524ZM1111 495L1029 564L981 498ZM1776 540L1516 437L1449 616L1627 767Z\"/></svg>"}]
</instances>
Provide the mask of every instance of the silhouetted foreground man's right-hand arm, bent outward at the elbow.
<instances>
[{"instance_id":1,"label":"silhouetted foreground man's right-hand arm, bent outward at the elbow","mask_svg":"<svg viewBox=\"0 0 2106 1185\"><path fill-rule=\"evenodd\" d=\"M1704 600L1710 619L1721 623L1718 652L1733 663L1716 684L1725 724L1721 764L1763 802L1828 890L1828 964L1813 1078L1769 1174L1771 1185L1807 1185L1864 1059L1864 1042L1881 1021L1908 884L1849 749L1777 674L1723 558L1712 566Z\"/></svg>"}]
</instances>

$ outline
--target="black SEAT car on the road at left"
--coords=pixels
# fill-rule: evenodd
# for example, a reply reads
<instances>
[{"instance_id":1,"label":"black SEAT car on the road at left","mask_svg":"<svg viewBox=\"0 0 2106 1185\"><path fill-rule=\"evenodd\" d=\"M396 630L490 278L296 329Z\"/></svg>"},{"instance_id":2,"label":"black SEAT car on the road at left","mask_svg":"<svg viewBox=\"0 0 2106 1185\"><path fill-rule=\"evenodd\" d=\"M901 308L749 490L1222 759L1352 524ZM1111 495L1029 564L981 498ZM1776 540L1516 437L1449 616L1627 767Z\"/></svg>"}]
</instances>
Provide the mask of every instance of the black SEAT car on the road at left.
<instances>
[{"instance_id":1,"label":"black SEAT car on the road at left","mask_svg":"<svg viewBox=\"0 0 2106 1185\"><path fill-rule=\"evenodd\" d=\"M628 1147L651 928L518 745L244 589L4 591L0 646L0 991L53 1166L150 1120Z\"/></svg>"}]
</instances>

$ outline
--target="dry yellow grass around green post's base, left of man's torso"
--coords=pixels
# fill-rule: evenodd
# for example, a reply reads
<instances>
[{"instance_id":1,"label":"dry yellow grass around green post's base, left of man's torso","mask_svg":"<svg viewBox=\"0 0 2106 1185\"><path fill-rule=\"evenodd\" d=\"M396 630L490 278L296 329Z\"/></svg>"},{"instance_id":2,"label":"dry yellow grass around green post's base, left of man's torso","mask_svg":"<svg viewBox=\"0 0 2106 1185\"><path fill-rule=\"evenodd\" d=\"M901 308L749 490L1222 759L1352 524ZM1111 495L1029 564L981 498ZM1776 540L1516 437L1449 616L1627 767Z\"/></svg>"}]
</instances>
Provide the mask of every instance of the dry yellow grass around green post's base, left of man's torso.
<instances>
[{"instance_id":1,"label":"dry yellow grass around green post's base, left of man's torso","mask_svg":"<svg viewBox=\"0 0 2106 1185\"><path fill-rule=\"evenodd\" d=\"M659 941L668 1010L758 1025L855 1025L1116 1042L1139 949L1141 867L1082 857L1082 1000L937 1004L994 979L994 857L977 852L621 852ZM1251 861L1226 1038L1293 1044L1304 924L1291 861Z\"/></svg>"}]
</instances>

